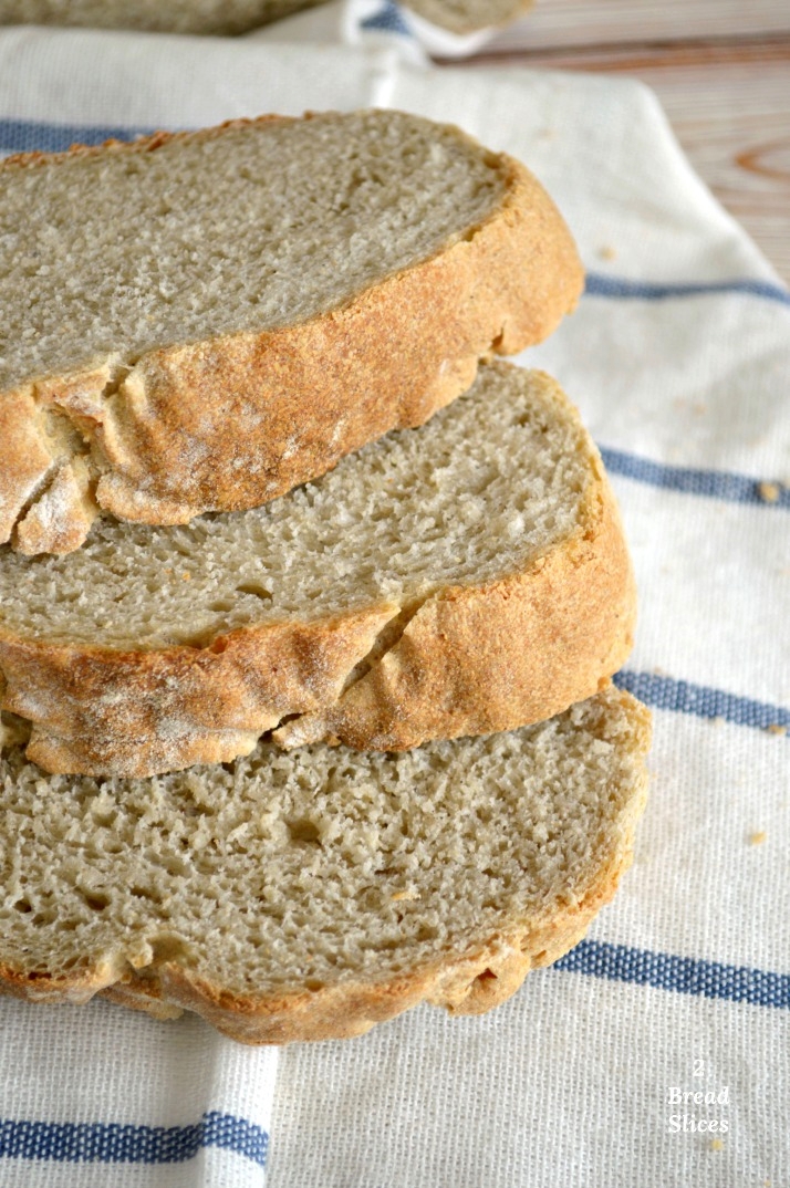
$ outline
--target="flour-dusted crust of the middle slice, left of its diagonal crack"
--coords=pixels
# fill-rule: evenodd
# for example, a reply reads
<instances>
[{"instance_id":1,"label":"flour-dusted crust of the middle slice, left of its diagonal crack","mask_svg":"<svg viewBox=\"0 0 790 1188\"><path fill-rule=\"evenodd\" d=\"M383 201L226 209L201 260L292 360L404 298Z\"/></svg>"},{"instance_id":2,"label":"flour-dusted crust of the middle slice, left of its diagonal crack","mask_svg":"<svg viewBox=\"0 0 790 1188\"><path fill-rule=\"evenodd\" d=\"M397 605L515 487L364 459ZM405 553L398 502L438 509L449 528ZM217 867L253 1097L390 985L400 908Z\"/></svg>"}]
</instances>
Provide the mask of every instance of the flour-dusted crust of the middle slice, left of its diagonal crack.
<instances>
[{"instance_id":1,"label":"flour-dusted crust of the middle slice, left of its diagonal crack","mask_svg":"<svg viewBox=\"0 0 790 1188\"><path fill-rule=\"evenodd\" d=\"M336 700L396 612L381 602L158 651L0 634L2 708L33 723L26 754L45 771L151 776L225 763L283 716Z\"/></svg>"}]
</instances>

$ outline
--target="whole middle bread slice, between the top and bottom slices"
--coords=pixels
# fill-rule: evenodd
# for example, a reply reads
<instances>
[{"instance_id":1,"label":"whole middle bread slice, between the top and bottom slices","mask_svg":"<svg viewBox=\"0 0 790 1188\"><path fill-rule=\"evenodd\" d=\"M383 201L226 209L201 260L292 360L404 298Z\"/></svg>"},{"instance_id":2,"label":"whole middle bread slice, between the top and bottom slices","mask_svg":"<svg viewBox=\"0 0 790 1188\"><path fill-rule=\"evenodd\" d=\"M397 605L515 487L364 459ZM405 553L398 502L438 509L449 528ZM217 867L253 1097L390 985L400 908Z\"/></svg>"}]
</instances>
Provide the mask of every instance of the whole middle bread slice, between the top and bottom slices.
<instances>
[{"instance_id":1,"label":"whole middle bread slice, between the top and bottom slices","mask_svg":"<svg viewBox=\"0 0 790 1188\"><path fill-rule=\"evenodd\" d=\"M0 549L2 706L48 771L146 776L550 718L625 659L634 586L557 385L499 362L426 425L265 507Z\"/></svg>"}]
</instances>

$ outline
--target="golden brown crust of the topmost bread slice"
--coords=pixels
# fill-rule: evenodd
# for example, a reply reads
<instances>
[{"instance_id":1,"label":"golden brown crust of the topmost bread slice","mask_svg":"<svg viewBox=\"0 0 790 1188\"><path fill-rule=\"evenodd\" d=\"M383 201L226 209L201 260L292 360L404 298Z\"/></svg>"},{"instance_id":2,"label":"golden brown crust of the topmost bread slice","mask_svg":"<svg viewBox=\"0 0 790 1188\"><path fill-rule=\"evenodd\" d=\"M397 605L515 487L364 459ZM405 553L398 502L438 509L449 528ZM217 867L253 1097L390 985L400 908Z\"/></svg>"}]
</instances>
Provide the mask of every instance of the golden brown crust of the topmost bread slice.
<instances>
[{"instance_id":1,"label":"golden brown crust of the topmost bread slice","mask_svg":"<svg viewBox=\"0 0 790 1188\"><path fill-rule=\"evenodd\" d=\"M182 135L72 153L153 152ZM2 169L43 159L15 157ZM505 194L480 226L343 307L261 334L153 350L129 367L116 356L97 360L80 375L31 385L36 416L69 417L89 448L95 513L175 524L257 506L390 429L422 424L472 385L492 350L510 354L546 337L579 299L581 264L539 183L505 154L489 154L489 164ZM21 431L30 434L27 422ZM0 474L8 507L29 498L20 481ZM83 512L69 506L63 514L78 522ZM31 542L64 551L78 537L59 525L51 532L39 529Z\"/></svg>"}]
</instances>

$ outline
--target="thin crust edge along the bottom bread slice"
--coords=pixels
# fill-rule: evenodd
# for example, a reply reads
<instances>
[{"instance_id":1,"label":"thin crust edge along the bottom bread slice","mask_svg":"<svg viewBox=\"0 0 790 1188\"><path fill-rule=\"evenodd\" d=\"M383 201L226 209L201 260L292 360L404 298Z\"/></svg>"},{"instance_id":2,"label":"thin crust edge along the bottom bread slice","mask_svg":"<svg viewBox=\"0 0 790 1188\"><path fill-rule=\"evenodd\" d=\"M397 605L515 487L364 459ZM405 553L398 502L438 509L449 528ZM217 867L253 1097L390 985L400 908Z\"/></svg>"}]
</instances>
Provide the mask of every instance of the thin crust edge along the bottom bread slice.
<instances>
[{"instance_id":1,"label":"thin crust edge along the bottom bread slice","mask_svg":"<svg viewBox=\"0 0 790 1188\"><path fill-rule=\"evenodd\" d=\"M650 713L630 694L617 690L615 695L632 731L634 789L612 826L614 840L606 862L586 887L568 889L570 902L554 914L512 922L470 952L380 982L347 981L261 998L223 991L175 961L135 969L119 958L71 978L25 975L0 966L0 993L48 1003L84 1003L99 993L158 1019L189 1010L246 1044L359 1036L422 1001L444 1006L453 1015L484 1013L506 1001L530 969L551 965L579 943L633 860L634 832L647 798Z\"/></svg>"}]
</instances>

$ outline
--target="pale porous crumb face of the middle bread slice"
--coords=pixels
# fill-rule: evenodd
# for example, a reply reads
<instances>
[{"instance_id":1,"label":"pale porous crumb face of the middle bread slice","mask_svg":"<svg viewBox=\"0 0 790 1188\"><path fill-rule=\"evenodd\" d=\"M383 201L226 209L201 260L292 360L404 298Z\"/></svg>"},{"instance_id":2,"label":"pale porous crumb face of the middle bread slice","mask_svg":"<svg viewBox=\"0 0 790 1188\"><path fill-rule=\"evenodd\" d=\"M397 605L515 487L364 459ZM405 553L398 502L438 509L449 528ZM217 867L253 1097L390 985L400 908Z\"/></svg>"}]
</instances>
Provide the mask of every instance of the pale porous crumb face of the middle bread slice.
<instances>
[{"instance_id":1,"label":"pale porous crumb face of the middle bread slice","mask_svg":"<svg viewBox=\"0 0 790 1188\"><path fill-rule=\"evenodd\" d=\"M173 527L100 522L68 557L0 548L0 624L25 638L153 649L407 607L550 551L579 522L594 456L552 380L486 367L419 430L388 434L264 507Z\"/></svg>"}]
</instances>

